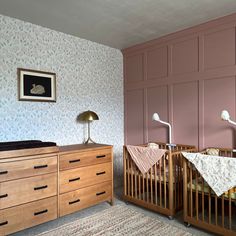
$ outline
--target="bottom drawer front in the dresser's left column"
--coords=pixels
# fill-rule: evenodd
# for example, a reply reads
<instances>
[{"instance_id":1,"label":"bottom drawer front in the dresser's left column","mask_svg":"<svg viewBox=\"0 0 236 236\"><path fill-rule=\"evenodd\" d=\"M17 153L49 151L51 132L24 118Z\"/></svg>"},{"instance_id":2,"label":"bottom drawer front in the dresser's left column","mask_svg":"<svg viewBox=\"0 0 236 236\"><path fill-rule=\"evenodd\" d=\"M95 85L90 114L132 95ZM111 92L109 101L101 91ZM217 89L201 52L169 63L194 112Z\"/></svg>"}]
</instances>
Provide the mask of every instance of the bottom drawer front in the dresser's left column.
<instances>
[{"instance_id":1,"label":"bottom drawer front in the dresser's left column","mask_svg":"<svg viewBox=\"0 0 236 236\"><path fill-rule=\"evenodd\" d=\"M1 210L0 235L38 225L57 218L57 197Z\"/></svg>"}]
</instances>

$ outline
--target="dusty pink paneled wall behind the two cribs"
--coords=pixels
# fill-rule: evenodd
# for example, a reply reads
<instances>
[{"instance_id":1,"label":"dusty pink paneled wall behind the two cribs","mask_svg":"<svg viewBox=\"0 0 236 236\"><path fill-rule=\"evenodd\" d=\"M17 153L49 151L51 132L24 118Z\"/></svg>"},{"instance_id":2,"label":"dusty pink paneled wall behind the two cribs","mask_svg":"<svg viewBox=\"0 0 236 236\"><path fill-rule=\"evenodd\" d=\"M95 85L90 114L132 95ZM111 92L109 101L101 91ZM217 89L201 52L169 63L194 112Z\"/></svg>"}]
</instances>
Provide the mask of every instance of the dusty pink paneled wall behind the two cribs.
<instances>
[{"instance_id":1,"label":"dusty pink paneled wall behind the two cribs","mask_svg":"<svg viewBox=\"0 0 236 236\"><path fill-rule=\"evenodd\" d=\"M123 50L126 144L167 142L158 112L175 143L236 147L236 127L220 119L236 118L235 27L232 14Z\"/></svg>"}]
</instances>

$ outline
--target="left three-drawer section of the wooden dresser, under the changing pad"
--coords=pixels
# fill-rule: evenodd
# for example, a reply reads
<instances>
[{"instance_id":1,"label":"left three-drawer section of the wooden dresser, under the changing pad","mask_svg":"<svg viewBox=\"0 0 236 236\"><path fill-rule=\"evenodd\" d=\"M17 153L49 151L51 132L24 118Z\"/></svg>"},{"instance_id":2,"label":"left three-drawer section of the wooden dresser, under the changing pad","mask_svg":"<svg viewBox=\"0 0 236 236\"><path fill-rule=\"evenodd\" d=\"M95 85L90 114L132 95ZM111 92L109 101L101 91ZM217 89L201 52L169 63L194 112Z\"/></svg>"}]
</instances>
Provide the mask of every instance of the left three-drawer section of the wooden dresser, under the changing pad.
<instances>
[{"instance_id":1,"label":"left three-drawer section of the wooden dresser, under the changing pad","mask_svg":"<svg viewBox=\"0 0 236 236\"><path fill-rule=\"evenodd\" d=\"M0 235L58 217L58 147L0 152Z\"/></svg>"}]
</instances>

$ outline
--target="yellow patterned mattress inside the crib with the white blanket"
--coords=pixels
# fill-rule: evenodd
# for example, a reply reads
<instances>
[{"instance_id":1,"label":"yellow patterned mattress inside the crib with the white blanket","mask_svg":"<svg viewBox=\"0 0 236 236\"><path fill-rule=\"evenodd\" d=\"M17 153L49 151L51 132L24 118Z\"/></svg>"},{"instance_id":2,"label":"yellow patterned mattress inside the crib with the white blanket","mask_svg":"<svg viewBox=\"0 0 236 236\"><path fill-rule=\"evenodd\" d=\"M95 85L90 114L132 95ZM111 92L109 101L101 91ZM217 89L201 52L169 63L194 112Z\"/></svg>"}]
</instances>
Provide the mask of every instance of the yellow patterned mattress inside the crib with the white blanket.
<instances>
[{"instance_id":1,"label":"yellow patterned mattress inside the crib with the white blanket","mask_svg":"<svg viewBox=\"0 0 236 236\"><path fill-rule=\"evenodd\" d=\"M193 191L198 190L199 192L203 192L204 191L204 193L209 194L211 188L207 184L207 182L204 182L204 184L202 184L201 180L198 180L198 183L196 183L196 182L197 182L196 179L193 179L192 180L192 186L191 186L191 183L189 182L188 185L187 185L188 189L192 189ZM211 194L215 195L213 190L211 190ZM223 196L225 198L229 198L229 196L231 196L232 200L236 200L236 188L233 189L233 192L231 194L228 194L228 192L225 192L223 194Z\"/></svg>"}]
</instances>

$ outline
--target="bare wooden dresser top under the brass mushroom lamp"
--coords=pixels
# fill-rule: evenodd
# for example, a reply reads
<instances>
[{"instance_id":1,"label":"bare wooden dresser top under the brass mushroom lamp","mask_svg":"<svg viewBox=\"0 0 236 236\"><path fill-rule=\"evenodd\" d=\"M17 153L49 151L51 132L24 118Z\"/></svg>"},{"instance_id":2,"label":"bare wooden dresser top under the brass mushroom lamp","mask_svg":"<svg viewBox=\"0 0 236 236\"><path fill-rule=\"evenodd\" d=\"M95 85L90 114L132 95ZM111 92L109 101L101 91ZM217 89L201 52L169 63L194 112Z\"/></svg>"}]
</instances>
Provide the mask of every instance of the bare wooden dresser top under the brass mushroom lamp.
<instances>
[{"instance_id":1,"label":"bare wooden dresser top under the brass mushroom lamp","mask_svg":"<svg viewBox=\"0 0 236 236\"><path fill-rule=\"evenodd\" d=\"M111 148L112 145L108 144L98 144L98 143L89 143L89 144L72 144L59 146L59 152L71 152L71 151L86 151L92 149L100 149L100 148Z\"/></svg>"}]
</instances>

